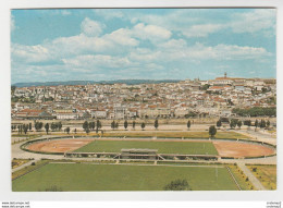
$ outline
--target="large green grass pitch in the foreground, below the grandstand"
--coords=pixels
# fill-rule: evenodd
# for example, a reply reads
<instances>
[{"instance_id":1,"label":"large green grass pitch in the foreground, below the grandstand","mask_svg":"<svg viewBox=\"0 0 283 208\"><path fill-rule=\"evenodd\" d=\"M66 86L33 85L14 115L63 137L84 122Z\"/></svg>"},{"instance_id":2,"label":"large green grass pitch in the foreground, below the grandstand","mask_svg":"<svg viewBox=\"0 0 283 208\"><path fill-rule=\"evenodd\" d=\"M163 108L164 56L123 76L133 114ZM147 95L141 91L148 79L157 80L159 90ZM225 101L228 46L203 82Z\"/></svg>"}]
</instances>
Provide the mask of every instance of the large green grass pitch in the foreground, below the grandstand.
<instances>
[{"instance_id":1,"label":"large green grass pitch in the foreground, below the grandstand","mask_svg":"<svg viewBox=\"0 0 283 208\"><path fill-rule=\"evenodd\" d=\"M218 174L216 174L218 172ZM218 175L218 176L217 176ZM49 163L12 182L13 192L52 186L76 191L162 191L174 180L187 180L193 191L236 191L230 173L219 167Z\"/></svg>"}]
</instances>

